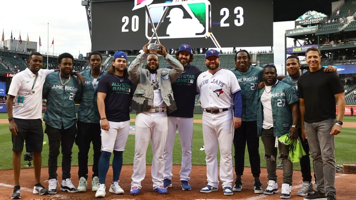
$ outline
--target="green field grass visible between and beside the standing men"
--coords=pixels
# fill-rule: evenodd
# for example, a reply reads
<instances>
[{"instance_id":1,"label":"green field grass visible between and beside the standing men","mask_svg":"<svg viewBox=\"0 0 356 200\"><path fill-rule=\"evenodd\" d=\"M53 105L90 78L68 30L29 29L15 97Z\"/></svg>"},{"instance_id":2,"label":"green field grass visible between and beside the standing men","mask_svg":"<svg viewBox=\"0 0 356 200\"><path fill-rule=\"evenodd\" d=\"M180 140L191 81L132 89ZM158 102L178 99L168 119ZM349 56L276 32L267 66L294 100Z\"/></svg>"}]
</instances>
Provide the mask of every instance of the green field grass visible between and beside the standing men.
<instances>
[{"instance_id":1,"label":"green field grass visible between and beside the standing men","mask_svg":"<svg viewBox=\"0 0 356 200\"><path fill-rule=\"evenodd\" d=\"M134 119L135 115L131 114L131 119ZM194 115L195 120L200 120L202 115L196 114ZM7 119L6 113L0 114L0 119ZM344 122L355 122L356 117L345 116ZM131 125L134 125L134 122L131 122ZM200 151L200 148L204 145L203 143L203 134L202 134L202 124L194 123L193 124L193 144L192 144L192 164L193 165L205 165L205 152ZM356 128L343 128L342 132L335 137L335 157L336 164L356 164L355 155L356 155ZM43 166L47 166L48 160L48 139L45 134L44 141L46 144L43 147L42 153L42 164ZM11 142L11 134L8 129L8 124L0 124L0 170L12 169L12 142ZM73 154L72 154L72 165L78 166L78 147L74 144L73 146ZM24 149L25 152L25 149ZM92 155L92 150L90 149L89 155ZM264 160L264 147L262 141L260 140L260 156L261 156L261 167L266 167L266 162ZM124 164L132 165L134 160L134 134L130 134L126 151L124 152ZM22 159L21 165L26 168L28 161L24 161ZM173 149L173 164L180 165L181 162L181 149L180 149L180 141L178 134L176 135L175 145ZM279 162L279 160L278 160ZM58 163L61 163L61 156L58 157ZM146 154L146 163L152 163L152 150L150 145L147 149ZM89 156L89 165L92 165L92 156ZM245 156L245 166L250 166L248 153L246 149ZM295 170L300 170L299 163L294 163L293 168Z\"/></svg>"}]
</instances>

